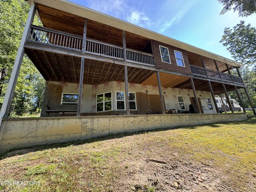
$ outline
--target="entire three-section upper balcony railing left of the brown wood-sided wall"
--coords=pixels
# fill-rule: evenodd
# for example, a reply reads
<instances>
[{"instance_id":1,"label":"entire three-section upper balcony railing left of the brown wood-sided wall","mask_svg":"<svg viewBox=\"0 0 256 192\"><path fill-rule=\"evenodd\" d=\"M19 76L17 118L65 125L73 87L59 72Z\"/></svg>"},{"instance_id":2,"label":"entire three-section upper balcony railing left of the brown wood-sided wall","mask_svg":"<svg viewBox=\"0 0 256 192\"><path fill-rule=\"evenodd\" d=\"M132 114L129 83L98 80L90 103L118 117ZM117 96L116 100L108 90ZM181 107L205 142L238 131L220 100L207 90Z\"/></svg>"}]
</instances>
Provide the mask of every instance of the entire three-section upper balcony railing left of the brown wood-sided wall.
<instances>
[{"instance_id":1,"label":"entire three-section upper balcony railing left of the brown wood-sided wall","mask_svg":"<svg viewBox=\"0 0 256 192\"><path fill-rule=\"evenodd\" d=\"M28 41L81 52L83 37L52 30L49 28L31 25ZM88 54L124 60L123 47L88 38L86 38L85 52ZM155 66L154 56L152 54L127 49L126 55L128 62Z\"/></svg>"}]
</instances>

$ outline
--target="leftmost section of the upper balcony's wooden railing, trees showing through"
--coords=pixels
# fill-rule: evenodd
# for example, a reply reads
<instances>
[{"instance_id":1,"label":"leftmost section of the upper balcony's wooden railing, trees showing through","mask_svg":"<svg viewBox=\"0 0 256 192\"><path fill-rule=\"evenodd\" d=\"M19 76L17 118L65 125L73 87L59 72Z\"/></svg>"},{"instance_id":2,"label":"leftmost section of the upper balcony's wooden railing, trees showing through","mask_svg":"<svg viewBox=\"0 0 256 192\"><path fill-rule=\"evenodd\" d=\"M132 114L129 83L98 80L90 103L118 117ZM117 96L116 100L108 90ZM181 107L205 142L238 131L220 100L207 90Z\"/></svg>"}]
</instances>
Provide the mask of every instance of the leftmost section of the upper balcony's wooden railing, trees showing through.
<instances>
[{"instance_id":1,"label":"leftmost section of the upper balcony's wooden railing, trees showing through","mask_svg":"<svg viewBox=\"0 0 256 192\"><path fill-rule=\"evenodd\" d=\"M48 28L31 25L28 40L61 48L82 50L83 38Z\"/></svg>"}]
</instances>

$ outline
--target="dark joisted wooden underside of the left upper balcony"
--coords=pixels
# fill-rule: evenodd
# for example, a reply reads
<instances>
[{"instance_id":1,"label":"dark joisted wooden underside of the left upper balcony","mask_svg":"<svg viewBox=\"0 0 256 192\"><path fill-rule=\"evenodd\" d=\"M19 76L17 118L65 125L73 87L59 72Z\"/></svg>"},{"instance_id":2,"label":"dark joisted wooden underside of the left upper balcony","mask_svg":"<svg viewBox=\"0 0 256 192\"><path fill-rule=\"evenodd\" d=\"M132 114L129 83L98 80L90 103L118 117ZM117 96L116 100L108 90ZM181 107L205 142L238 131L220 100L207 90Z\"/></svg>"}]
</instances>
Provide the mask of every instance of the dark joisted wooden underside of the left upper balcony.
<instances>
[{"instance_id":1,"label":"dark joisted wooden underside of the left upper balcony","mask_svg":"<svg viewBox=\"0 0 256 192\"><path fill-rule=\"evenodd\" d=\"M25 50L46 81L79 83L81 58L37 50ZM141 84L153 71L128 67L128 81ZM84 84L124 82L124 66L96 60L84 62Z\"/></svg>"}]
</instances>

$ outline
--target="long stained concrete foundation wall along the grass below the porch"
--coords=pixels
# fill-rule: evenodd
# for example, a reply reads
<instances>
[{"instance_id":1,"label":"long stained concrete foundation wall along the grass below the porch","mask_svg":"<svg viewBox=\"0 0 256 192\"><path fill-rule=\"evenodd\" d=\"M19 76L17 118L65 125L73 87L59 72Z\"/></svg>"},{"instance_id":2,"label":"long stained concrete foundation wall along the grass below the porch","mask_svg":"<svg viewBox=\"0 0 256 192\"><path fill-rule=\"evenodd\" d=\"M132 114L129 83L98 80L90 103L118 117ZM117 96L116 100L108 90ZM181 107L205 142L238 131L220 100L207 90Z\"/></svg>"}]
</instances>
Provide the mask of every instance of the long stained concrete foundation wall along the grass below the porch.
<instances>
[{"instance_id":1,"label":"long stained concrete foundation wall along the grass below the porch","mask_svg":"<svg viewBox=\"0 0 256 192\"><path fill-rule=\"evenodd\" d=\"M0 152L11 148L122 132L238 121L246 118L245 113L11 118L3 120L0 127Z\"/></svg>"}]
</instances>

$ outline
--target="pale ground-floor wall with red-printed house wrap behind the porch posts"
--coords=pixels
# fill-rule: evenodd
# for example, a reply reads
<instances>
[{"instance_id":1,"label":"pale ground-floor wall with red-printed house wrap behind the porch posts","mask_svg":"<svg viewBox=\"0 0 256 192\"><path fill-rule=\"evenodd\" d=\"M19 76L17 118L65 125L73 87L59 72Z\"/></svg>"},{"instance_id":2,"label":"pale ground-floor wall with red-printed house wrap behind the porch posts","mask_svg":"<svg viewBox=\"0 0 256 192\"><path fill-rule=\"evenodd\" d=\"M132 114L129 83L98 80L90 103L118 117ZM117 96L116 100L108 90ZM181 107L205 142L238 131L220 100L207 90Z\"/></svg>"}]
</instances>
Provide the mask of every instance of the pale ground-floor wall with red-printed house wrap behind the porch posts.
<instances>
[{"instance_id":1,"label":"pale ground-floor wall with red-printed house wrap behind the porch posts","mask_svg":"<svg viewBox=\"0 0 256 192\"><path fill-rule=\"evenodd\" d=\"M48 83L52 87L52 91L55 91L54 88L58 87L61 88L62 93L68 93L68 94L78 94L79 86L78 84L72 84L72 83L60 83L60 82L50 82ZM129 92L141 92L141 93L146 93L148 91L148 94L150 95L159 95L158 87L157 86L150 86L150 85L142 85L142 84L132 84L129 83L128 86ZM165 102L165 107L166 110L170 109L179 109L178 105L178 97L177 96L183 96L184 98L184 103L185 103L185 109L188 111L189 110L189 105L191 104L190 102L190 97L194 97L193 91L192 90L183 90L183 89L178 89L178 88L164 88L162 87L163 93L164 94L164 102ZM124 110L116 110L116 92L125 92L125 87L124 87L124 82L108 82L106 84L100 84L98 86L92 86L92 85L86 85L84 84L83 87L83 96L82 96L82 109L81 113L82 115L116 115L116 114L125 114L126 111ZM47 91L48 92L48 91ZM56 91L55 91L56 92ZM111 111L106 111L106 112L96 112L96 95L97 94L102 94L106 92L112 92L112 110ZM61 97L62 93L58 92L58 102L54 104L61 104ZM188 95L189 94L189 95ZM202 91L197 91L197 95L200 98L202 102L202 107L204 109L204 113L216 113L216 109L212 100L212 96L210 92L202 92ZM199 96L201 95L201 96ZM56 97L56 94L53 94L54 98ZM206 98L210 98L212 101L212 106L214 110L209 110L208 109L208 104L206 102ZM136 98L136 105L137 105L137 110L130 110L132 114L137 114L138 113L138 102L141 100L148 100L148 97L145 98ZM54 99L54 101L57 101ZM45 103L47 103L48 100L46 100ZM52 102L52 101L51 101ZM148 107L148 110L150 108ZM66 113L66 114L60 114L58 113L57 115L51 114L50 116L73 116L76 115L75 113ZM145 114L145 113L144 113Z\"/></svg>"}]
</instances>

